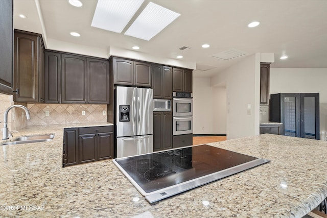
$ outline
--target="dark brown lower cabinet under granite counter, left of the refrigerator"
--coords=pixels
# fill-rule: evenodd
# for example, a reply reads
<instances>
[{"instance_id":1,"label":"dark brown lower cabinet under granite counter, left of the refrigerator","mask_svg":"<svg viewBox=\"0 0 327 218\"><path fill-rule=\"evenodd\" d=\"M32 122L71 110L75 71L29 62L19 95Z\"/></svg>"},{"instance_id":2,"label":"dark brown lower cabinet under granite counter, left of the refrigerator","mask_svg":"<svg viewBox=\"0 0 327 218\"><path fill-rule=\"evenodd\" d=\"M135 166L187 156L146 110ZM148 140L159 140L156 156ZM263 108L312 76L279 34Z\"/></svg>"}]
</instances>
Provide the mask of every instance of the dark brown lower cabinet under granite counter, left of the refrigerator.
<instances>
[{"instance_id":1,"label":"dark brown lower cabinet under granite counter, left of the refrigerator","mask_svg":"<svg viewBox=\"0 0 327 218\"><path fill-rule=\"evenodd\" d=\"M113 127L65 129L63 152L63 166L113 158Z\"/></svg>"}]
</instances>

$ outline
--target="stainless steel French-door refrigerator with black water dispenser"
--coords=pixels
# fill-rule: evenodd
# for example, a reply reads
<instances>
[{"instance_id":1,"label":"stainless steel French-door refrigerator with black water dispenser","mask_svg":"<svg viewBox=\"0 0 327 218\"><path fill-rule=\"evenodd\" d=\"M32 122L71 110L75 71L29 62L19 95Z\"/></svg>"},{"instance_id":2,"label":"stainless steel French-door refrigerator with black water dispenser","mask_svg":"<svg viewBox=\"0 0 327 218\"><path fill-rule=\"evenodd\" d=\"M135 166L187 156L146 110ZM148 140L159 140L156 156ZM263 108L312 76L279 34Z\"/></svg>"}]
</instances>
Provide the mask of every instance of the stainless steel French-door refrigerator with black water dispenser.
<instances>
[{"instance_id":1,"label":"stainless steel French-door refrigerator with black water dispenser","mask_svg":"<svg viewBox=\"0 0 327 218\"><path fill-rule=\"evenodd\" d=\"M153 152L153 90L116 87L117 157Z\"/></svg>"}]
</instances>

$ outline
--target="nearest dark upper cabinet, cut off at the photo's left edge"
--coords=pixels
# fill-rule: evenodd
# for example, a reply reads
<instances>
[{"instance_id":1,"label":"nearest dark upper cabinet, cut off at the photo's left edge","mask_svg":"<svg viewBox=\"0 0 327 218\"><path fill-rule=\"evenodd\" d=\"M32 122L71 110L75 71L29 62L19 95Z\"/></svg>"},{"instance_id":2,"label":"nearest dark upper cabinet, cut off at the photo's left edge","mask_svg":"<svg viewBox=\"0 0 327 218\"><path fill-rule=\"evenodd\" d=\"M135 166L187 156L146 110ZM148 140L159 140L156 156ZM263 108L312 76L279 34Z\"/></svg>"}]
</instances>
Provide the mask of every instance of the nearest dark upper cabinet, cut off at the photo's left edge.
<instances>
[{"instance_id":1,"label":"nearest dark upper cabinet, cut off at the photo's left edge","mask_svg":"<svg viewBox=\"0 0 327 218\"><path fill-rule=\"evenodd\" d=\"M13 1L0 1L0 92L13 92Z\"/></svg>"}]
</instances>

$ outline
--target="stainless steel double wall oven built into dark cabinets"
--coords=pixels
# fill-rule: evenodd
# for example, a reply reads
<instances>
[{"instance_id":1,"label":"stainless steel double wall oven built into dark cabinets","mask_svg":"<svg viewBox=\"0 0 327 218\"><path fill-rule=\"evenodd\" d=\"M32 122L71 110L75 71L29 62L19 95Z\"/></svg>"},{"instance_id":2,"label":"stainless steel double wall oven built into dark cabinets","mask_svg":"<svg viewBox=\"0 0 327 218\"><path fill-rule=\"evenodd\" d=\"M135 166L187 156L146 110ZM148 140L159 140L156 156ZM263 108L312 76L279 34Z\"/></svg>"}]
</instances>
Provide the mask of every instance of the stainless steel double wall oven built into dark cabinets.
<instances>
[{"instance_id":1,"label":"stainless steel double wall oven built into dark cabinets","mask_svg":"<svg viewBox=\"0 0 327 218\"><path fill-rule=\"evenodd\" d=\"M173 135L193 133L192 93L173 92Z\"/></svg>"}]
</instances>

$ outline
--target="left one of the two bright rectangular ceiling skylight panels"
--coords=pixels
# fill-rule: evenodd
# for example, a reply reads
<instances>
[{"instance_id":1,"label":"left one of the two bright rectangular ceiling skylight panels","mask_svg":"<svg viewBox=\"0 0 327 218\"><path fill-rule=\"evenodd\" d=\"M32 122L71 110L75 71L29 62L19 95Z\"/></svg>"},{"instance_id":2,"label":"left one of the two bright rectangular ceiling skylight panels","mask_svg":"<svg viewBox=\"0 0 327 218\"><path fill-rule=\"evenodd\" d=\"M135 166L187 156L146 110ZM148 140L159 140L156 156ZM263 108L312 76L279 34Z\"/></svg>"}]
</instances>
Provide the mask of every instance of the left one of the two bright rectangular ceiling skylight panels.
<instances>
[{"instance_id":1,"label":"left one of the two bright rectangular ceiling skylight panels","mask_svg":"<svg viewBox=\"0 0 327 218\"><path fill-rule=\"evenodd\" d=\"M98 0L91 26L121 33L143 2Z\"/></svg>"}]
</instances>

